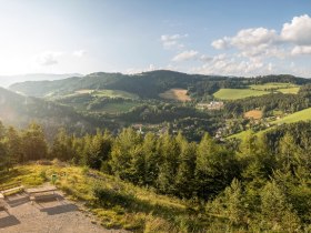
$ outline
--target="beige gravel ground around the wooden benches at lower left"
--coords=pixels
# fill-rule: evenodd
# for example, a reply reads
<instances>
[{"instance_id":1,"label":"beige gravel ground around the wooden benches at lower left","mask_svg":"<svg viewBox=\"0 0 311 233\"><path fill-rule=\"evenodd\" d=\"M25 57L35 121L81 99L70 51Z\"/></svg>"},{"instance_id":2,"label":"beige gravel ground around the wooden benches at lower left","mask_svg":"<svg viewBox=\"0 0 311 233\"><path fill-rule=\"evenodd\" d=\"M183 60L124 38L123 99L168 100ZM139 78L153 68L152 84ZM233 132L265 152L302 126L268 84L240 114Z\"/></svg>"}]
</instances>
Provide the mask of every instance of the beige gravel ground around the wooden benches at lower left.
<instances>
[{"instance_id":1,"label":"beige gravel ground around the wooden benches at lower left","mask_svg":"<svg viewBox=\"0 0 311 233\"><path fill-rule=\"evenodd\" d=\"M108 233L123 232L106 230L79 211L68 200L50 200L31 204L26 194L7 199L8 212L0 212L0 233Z\"/></svg>"}]
</instances>

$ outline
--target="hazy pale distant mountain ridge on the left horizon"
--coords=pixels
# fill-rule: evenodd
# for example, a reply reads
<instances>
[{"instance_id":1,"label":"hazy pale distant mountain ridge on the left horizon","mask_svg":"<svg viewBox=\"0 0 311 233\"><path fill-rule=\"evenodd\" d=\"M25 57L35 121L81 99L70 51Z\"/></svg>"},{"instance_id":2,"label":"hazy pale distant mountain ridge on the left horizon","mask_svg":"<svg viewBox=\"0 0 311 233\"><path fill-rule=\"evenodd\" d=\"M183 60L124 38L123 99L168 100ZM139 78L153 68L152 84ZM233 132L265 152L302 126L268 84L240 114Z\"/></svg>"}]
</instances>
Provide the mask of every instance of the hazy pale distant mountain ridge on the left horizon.
<instances>
[{"instance_id":1,"label":"hazy pale distant mountain ridge on the left horizon","mask_svg":"<svg viewBox=\"0 0 311 233\"><path fill-rule=\"evenodd\" d=\"M8 88L9 85L23 81L43 81L43 80L60 80L70 77L82 77L80 73L28 73L18 75L0 75L0 87Z\"/></svg>"}]
</instances>

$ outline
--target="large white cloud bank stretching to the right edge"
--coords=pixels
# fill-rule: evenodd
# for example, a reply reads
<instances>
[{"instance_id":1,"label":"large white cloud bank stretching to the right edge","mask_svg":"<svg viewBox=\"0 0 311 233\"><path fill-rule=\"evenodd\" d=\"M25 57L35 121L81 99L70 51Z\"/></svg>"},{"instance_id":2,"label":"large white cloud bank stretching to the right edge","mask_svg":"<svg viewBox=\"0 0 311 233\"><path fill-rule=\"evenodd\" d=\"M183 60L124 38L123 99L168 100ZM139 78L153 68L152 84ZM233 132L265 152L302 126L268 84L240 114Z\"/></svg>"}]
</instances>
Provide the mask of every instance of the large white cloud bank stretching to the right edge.
<instances>
[{"instance_id":1,"label":"large white cloud bank stretching to the right edge","mask_svg":"<svg viewBox=\"0 0 311 233\"><path fill-rule=\"evenodd\" d=\"M310 54L311 18L308 14L294 17L290 23L283 24L280 33L265 28L242 29L234 37L212 41L211 45L218 50L235 48L245 58L284 59Z\"/></svg>"}]
</instances>

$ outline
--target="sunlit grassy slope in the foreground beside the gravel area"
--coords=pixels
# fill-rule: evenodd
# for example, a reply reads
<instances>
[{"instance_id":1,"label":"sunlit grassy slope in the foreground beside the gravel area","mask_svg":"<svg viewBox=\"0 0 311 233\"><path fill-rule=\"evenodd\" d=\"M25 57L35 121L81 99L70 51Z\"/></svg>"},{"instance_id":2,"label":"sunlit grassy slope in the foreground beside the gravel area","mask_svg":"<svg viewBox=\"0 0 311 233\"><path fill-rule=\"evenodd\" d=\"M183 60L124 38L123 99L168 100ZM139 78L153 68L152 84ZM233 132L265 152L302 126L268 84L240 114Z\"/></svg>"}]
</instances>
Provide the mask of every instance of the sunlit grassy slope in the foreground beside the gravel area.
<instances>
[{"instance_id":1,"label":"sunlit grassy slope in the foreground beside the gravel area","mask_svg":"<svg viewBox=\"0 0 311 233\"><path fill-rule=\"evenodd\" d=\"M57 186L69 197L86 203L100 224L110 229L127 229L134 232L199 232L208 221L191 214L184 202L156 194L97 171L77 166L23 165L0 175L1 184L21 181L27 188L49 182L58 175ZM97 202L93 189L108 193L106 204ZM204 231L205 232L205 231Z\"/></svg>"}]
</instances>

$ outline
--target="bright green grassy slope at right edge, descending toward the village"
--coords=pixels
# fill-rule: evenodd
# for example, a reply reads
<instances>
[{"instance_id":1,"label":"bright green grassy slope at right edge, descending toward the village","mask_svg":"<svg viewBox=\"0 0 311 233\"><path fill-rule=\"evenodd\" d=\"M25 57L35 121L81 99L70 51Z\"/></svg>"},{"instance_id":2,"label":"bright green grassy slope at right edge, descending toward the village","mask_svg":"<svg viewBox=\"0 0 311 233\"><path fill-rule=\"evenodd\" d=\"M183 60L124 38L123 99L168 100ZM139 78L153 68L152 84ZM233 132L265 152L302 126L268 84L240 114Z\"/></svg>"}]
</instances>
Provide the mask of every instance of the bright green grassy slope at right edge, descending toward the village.
<instances>
[{"instance_id":1,"label":"bright green grassy slope at right edge, descending toward the village","mask_svg":"<svg viewBox=\"0 0 311 233\"><path fill-rule=\"evenodd\" d=\"M274 124L274 125L278 125L278 124L283 124L283 123L294 123L294 122L299 122L299 121L311 121L311 108L309 109L304 109L304 110L301 110L299 112L295 112L295 113L292 113L292 114L289 114L282 119L279 119L279 120L275 120L275 121L272 121L271 124ZM267 130L263 130L263 131L259 131L257 134L260 135L271 129L273 129L274 126L271 126ZM232 138L235 138L235 139L243 139L247 134L247 131L242 131L240 133L235 133L235 134L232 134L230 136L228 136L229 139L232 139Z\"/></svg>"}]
</instances>

